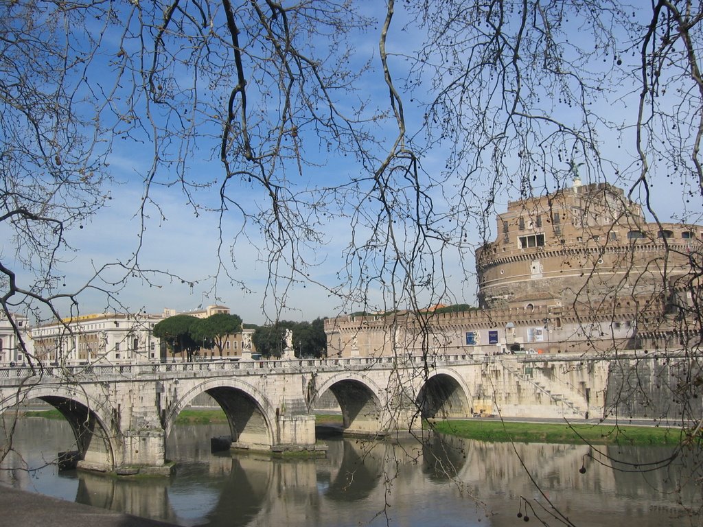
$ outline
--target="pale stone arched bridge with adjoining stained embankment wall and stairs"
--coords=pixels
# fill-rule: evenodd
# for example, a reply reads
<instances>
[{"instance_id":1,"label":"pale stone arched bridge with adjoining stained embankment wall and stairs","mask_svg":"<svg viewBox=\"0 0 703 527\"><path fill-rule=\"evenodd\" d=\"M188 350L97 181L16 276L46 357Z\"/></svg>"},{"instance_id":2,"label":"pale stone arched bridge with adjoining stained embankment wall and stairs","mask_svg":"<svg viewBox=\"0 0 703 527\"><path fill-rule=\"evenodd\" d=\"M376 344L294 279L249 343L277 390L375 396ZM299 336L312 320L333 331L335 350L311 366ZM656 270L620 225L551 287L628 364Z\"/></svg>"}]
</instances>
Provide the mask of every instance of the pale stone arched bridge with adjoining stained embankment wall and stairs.
<instances>
[{"instance_id":1,"label":"pale stone arched bridge with adjoining stained embankment wall and stairs","mask_svg":"<svg viewBox=\"0 0 703 527\"><path fill-rule=\"evenodd\" d=\"M420 431L422 417L467 417L479 406L513 417L602 413L602 360L540 361L541 369L524 356L470 355L2 368L0 412L7 419L31 399L50 403L75 432L79 468L117 474L168 474L165 438L201 393L226 412L232 448L266 451L314 450L314 410L326 391L345 433L363 436Z\"/></svg>"}]
</instances>

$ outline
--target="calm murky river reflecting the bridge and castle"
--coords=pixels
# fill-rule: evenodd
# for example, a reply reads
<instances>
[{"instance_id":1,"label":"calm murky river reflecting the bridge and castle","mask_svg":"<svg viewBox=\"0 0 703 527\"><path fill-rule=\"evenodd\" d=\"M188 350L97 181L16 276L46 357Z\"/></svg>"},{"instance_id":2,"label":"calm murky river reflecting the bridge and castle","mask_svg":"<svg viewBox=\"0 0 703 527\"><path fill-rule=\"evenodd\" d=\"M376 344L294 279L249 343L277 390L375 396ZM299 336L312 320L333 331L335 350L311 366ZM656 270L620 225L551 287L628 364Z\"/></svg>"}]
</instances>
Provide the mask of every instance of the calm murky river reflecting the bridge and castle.
<instances>
[{"instance_id":1,"label":"calm murky river reflecting the bridge and castle","mask_svg":"<svg viewBox=\"0 0 703 527\"><path fill-rule=\"evenodd\" d=\"M226 425L177 426L167 443L178 462L172 478L117 479L58 471L56 453L75 448L70 427L26 417L0 481L182 526L501 527L522 525L525 516L563 525L557 511L583 527L703 526L677 503L702 506L690 457L643 473L669 455L663 448L599 447L599 454L586 445L329 438L324 459L210 453L209 438L227 433ZM608 457L637 466L614 470Z\"/></svg>"}]
</instances>

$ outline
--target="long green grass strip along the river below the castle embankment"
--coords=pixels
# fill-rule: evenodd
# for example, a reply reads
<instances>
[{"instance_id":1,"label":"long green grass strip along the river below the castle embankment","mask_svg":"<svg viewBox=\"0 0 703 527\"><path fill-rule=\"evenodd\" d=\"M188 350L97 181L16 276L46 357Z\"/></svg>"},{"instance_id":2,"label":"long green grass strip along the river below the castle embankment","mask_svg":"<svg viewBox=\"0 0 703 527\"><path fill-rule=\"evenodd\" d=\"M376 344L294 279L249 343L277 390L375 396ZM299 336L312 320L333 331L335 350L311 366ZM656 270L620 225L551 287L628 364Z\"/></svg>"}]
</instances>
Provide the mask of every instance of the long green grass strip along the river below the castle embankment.
<instances>
[{"instance_id":1,"label":"long green grass strip along the river below the castle embankment","mask_svg":"<svg viewBox=\"0 0 703 527\"><path fill-rule=\"evenodd\" d=\"M630 427L614 424L546 424L466 419L435 421L427 427L452 436L478 441L520 443L591 443L598 445L673 445L680 441L676 428Z\"/></svg>"}]
</instances>

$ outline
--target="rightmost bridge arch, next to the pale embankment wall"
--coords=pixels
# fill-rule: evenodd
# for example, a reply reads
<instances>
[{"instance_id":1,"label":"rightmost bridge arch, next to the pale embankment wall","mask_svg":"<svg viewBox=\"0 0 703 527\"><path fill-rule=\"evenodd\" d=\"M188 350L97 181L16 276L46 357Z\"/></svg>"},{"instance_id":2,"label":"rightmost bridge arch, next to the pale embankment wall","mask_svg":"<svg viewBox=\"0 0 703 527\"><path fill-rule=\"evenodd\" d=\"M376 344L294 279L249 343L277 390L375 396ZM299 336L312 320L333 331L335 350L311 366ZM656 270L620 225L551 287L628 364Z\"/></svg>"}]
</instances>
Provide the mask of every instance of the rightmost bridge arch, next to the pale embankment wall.
<instances>
[{"instance_id":1,"label":"rightmost bridge arch, next to the pale embankment wall","mask_svg":"<svg viewBox=\"0 0 703 527\"><path fill-rule=\"evenodd\" d=\"M471 413L472 394L465 380L450 368L438 368L418 391L417 404L423 419L466 418Z\"/></svg>"}]
</instances>

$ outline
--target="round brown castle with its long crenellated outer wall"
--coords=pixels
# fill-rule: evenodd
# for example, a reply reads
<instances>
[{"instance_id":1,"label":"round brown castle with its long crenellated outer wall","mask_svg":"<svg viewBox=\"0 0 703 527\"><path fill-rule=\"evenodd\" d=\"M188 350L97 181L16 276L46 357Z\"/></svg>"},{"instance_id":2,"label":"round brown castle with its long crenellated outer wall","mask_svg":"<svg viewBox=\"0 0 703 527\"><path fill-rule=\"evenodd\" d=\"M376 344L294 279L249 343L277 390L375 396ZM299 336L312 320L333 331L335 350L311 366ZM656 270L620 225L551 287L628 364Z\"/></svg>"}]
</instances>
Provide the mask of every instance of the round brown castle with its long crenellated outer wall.
<instances>
[{"instance_id":1,"label":"round brown castle with its long crenellated outer wall","mask_svg":"<svg viewBox=\"0 0 703 527\"><path fill-rule=\"evenodd\" d=\"M496 223L475 255L479 308L329 319L328 356L680 349L699 333L703 226L647 223L621 188L579 178Z\"/></svg>"}]
</instances>

